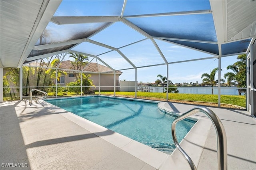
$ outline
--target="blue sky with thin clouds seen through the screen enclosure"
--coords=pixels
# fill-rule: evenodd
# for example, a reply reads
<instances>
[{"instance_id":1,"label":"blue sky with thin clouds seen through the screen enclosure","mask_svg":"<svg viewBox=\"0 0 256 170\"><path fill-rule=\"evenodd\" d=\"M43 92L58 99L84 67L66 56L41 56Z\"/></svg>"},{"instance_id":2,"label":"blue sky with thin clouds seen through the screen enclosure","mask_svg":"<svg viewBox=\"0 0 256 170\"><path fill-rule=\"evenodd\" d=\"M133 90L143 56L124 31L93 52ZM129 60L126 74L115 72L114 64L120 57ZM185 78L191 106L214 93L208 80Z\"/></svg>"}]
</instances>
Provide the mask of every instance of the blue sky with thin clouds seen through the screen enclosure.
<instances>
[{"instance_id":1,"label":"blue sky with thin clouds seen through the screen enclosure","mask_svg":"<svg viewBox=\"0 0 256 170\"><path fill-rule=\"evenodd\" d=\"M163 12L178 12L178 11L189 11L189 10L204 10L210 9L210 3L208 0L204 1L179 1L174 8L174 5L170 6L168 3L170 1L132 1L129 0L126 4L126 9L124 11L125 15L136 15L136 14L149 14L149 13L163 13ZM172 1L174 2L174 1ZM135 6L136 3L136 6ZM176 3L176 2L175 2ZM182 3L180 5L180 3ZM196 4L196 5L195 5ZM200 5L198 5L200 4ZM58 10L54 16L119 16L122 10L123 1L68 1L64 0L60 4ZM131 8L132 7L132 8ZM131 10L132 9L132 10ZM207 16L209 22L204 23L208 27L208 30L214 28L211 24L212 16ZM146 20L143 19L130 19L131 22L137 22L138 25L146 24L146 29L154 29L159 25L163 28L157 34L164 34L168 31L168 28L175 25L176 32L188 31L184 24L189 24L189 21L182 21L182 18L176 18L172 20L173 23L164 22L166 18L164 17L148 17ZM171 18L169 18L171 19ZM170 21L170 20L168 20ZM199 23L199 22L198 22ZM181 27L179 28L179 24ZM135 69L132 65L124 59L123 56L132 62L136 67L143 67L146 65L162 64L164 60L162 59L159 51L156 49L154 44L150 39L146 39L145 36L138 33L136 30L130 28L122 22L115 22L113 24L109 23L89 23L89 24L72 24L72 25L56 25L54 23L49 23L46 29L47 34L51 38L45 39L45 43L54 43L59 41L66 41L72 39L74 35L91 35L96 28L102 28L107 26L104 30L98 34L91 36L90 40L96 42L104 43L112 47L118 48L120 53L117 51L111 51L106 47L101 47L89 42L80 43L72 48L74 51L80 51L83 53L88 53L100 57L107 65L113 69L128 69L122 70L122 75L120 75L120 80L134 81L135 80ZM190 25L191 26L191 25ZM194 26L194 34L202 34L205 36L206 40L214 41L216 34L212 33L212 36L208 36L205 30L200 30L201 26ZM215 30L213 30L215 32ZM192 35L196 36L196 35ZM156 44L162 51L164 57L168 62L177 62L190 59L199 59L206 57L213 57L214 55L209 53L204 53L201 51L196 51L184 46L179 46L174 43L162 41L154 38ZM137 42L137 43L134 43ZM134 43L129 46L128 45ZM108 52L110 51L110 52ZM106 53L108 52L108 53ZM123 55L123 56L122 56ZM226 69L228 65L236 62L237 56L222 57L221 61L221 78L224 78L224 73L229 70ZM68 60L68 57L65 58ZM96 61L92 57L89 57L89 61L98 62L99 64L105 65L101 61ZM205 59L200 61L191 61L183 63L173 63L168 66L168 76L172 83L202 83L201 75L203 73L210 73L214 68L218 67L218 59ZM161 74L167 76L167 66L159 65L154 67L144 67L137 69L137 81L144 83L153 83L158 79L157 75ZM218 72L216 73L216 79L218 79Z\"/></svg>"}]
</instances>

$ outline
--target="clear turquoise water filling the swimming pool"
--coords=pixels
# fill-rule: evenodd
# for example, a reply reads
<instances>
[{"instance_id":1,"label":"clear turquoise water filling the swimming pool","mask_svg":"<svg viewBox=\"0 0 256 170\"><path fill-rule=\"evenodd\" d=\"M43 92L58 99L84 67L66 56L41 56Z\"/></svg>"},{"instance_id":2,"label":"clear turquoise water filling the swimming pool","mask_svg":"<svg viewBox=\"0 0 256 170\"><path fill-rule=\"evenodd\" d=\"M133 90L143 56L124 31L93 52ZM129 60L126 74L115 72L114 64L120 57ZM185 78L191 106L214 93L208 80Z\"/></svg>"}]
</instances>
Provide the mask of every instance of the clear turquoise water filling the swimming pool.
<instances>
[{"instance_id":1,"label":"clear turquoise water filling the swimming pool","mask_svg":"<svg viewBox=\"0 0 256 170\"><path fill-rule=\"evenodd\" d=\"M98 96L47 102L167 154L175 149L171 134L175 117L160 111L157 103ZM194 123L177 123L176 136L179 142Z\"/></svg>"}]
</instances>

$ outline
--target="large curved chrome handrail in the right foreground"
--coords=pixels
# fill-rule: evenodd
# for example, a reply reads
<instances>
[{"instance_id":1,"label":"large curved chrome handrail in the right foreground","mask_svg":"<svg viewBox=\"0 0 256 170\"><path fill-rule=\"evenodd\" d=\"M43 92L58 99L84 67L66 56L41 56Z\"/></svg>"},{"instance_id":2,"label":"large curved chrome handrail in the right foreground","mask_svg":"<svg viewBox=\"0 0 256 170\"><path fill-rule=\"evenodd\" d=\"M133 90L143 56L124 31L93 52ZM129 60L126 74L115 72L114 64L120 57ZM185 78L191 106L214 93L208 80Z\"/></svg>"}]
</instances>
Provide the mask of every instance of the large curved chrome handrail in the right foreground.
<instances>
[{"instance_id":1,"label":"large curved chrome handrail in the right foreground","mask_svg":"<svg viewBox=\"0 0 256 170\"><path fill-rule=\"evenodd\" d=\"M180 151L182 156L187 160L192 170L196 170L196 166L192 159L188 156L188 154L180 147L180 144L176 138L175 126L178 121L186 119L187 117L194 115L198 111L202 111L202 113L206 114L212 121L216 133L217 133L217 152L218 152L218 170L227 170L228 169L228 156L227 156L227 138L226 132L223 124L221 123L218 116L210 109L206 107L195 107L183 115L176 117L172 122L172 138L174 140L174 144L176 148Z\"/></svg>"}]
</instances>

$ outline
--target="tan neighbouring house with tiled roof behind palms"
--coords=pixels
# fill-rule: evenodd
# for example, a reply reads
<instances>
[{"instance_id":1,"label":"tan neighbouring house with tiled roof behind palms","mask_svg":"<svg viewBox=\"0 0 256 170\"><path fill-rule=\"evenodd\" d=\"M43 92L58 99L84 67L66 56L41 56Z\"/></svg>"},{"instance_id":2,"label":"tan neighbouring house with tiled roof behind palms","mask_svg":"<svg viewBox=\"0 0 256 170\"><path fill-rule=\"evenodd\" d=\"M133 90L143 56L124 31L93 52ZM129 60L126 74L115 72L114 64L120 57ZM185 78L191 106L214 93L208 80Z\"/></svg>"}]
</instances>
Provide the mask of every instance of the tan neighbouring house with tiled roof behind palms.
<instances>
[{"instance_id":1,"label":"tan neighbouring house with tiled roof behind palms","mask_svg":"<svg viewBox=\"0 0 256 170\"><path fill-rule=\"evenodd\" d=\"M78 71L65 71L66 75L61 75L60 79L58 81L58 84L61 86L65 86L67 83L70 82L76 82L76 74L81 74L80 70L83 70L83 73L90 74L91 77L89 79L92 80L93 84L96 86L95 88L92 87L92 89L98 90L101 86L101 90L114 90L114 71L112 69L100 65L97 63L88 63L85 66L74 66L72 65L72 61L62 61L60 63L60 66L58 67L58 70L61 69L72 69L72 70L78 70ZM99 75L100 73L100 75ZM116 86L119 86L119 76L122 74L121 71L116 71ZM54 83L56 83L56 80L54 80ZM106 86L106 87L104 87ZM119 88L116 88L116 90L119 90Z\"/></svg>"}]
</instances>

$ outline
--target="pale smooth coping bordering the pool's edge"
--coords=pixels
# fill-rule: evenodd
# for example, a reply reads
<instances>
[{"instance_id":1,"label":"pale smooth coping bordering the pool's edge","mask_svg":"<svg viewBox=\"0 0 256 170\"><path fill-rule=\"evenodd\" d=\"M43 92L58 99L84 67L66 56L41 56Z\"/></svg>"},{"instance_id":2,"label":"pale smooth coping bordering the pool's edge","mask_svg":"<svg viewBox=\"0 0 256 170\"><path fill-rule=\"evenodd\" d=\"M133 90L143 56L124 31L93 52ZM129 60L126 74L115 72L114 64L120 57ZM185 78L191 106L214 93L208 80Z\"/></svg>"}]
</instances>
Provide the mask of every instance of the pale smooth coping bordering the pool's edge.
<instances>
[{"instance_id":1,"label":"pale smooth coping bordering the pool's edge","mask_svg":"<svg viewBox=\"0 0 256 170\"><path fill-rule=\"evenodd\" d=\"M79 96L76 98L95 97L95 96L102 96L102 95ZM102 97L106 97L106 96L102 96ZM107 97L158 103L158 105L159 103L162 103L162 105L160 106L160 109L163 109L164 111L168 111L168 112L172 111L169 108L164 107L164 104L167 102L148 101L143 99L133 99L133 98L123 98L123 97L113 97L113 96L107 96ZM74 98L74 97L70 97L70 98ZM62 97L57 99L68 99L68 98ZM61 109L60 107L52 105L48 103L47 100L43 102L40 101L40 103L48 107L49 109L53 110L54 112L59 113L66 119L69 119L73 123L76 123L80 127L85 128L86 130L94 133L96 136L99 136L100 138L124 150L125 152L128 152L129 154L135 156L136 158L142 160L143 162L149 164L150 166L156 169L170 169L170 168L171 169L188 169L190 168L186 160L182 157L182 155L179 153L177 149L175 149L171 155L165 154L161 151L151 148L150 146L147 146L136 140L128 138L127 136L124 136L122 134L109 130L105 127L102 127L101 125L98 125L78 115L75 115L74 113L68 112L64 109ZM176 113L176 114L180 115L182 113ZM186 153L190 156L190 158L192 158L194 164L198 166L200 157L202 154L202 150L204 148L208 133L210 131L211 123L209 123L210 120L205 119L204 117L197 117L194 115L191 118L192 120L196 119L197 122L190 129L188 134L186 134L186 136L182 139L182 141L180 142L180 146L186 151ZM201 127L204 127L204 128L201 128Z\"/></svg>"}]
</instances>

